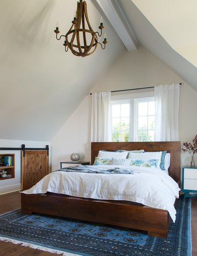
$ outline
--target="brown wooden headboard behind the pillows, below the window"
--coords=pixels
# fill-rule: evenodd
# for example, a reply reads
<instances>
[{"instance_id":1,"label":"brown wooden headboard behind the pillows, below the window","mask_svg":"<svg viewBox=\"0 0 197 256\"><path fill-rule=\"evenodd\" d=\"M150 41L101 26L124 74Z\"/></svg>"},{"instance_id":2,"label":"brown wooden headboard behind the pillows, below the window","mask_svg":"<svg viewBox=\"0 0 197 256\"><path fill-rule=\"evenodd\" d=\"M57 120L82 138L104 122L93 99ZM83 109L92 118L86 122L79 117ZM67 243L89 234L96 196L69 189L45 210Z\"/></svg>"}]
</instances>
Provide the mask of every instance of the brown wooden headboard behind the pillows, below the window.
<instances>
[{"instance_id":1,"label":"brown wooden headboard behind the pillows, below the window","mask_svg":"<svg viewBox=\"0 0 197 256\"><path fill-rule=\"evenodd\" d=\"M116 151L116 150L141 150L164 151L170 153L169 175L176 181L180 182L180 141L162 141L162 142L91 142L91 164L94 164L95 157L99 150Z\"/></svg>"}]
</instances>

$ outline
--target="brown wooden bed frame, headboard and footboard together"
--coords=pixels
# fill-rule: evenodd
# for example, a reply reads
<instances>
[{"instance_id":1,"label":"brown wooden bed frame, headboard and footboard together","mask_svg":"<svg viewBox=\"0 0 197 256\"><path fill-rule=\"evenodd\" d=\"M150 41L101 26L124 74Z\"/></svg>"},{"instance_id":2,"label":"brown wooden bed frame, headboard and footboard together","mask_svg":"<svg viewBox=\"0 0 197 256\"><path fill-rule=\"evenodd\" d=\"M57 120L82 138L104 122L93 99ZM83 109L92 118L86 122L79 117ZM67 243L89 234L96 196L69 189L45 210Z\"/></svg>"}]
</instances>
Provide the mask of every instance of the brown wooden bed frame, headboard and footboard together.
<instances>
[{"instance_id":1,"label":"brown wooden bed frame, headboard and footboard together","mask_svg":"<svg viewBox=\"0 0 197 256\"><path fill-rule=\"evenodd\" d=\"M170 153L169 175L180 181L180 142L92 142L91 164L99 150L164 151ZM167 238L171 218L167 210L128 201L95 200L46 193L21 193L22 212L43 213L65 218L116 225L148 231L148 235Z\"/></svg>"}]
</instances>

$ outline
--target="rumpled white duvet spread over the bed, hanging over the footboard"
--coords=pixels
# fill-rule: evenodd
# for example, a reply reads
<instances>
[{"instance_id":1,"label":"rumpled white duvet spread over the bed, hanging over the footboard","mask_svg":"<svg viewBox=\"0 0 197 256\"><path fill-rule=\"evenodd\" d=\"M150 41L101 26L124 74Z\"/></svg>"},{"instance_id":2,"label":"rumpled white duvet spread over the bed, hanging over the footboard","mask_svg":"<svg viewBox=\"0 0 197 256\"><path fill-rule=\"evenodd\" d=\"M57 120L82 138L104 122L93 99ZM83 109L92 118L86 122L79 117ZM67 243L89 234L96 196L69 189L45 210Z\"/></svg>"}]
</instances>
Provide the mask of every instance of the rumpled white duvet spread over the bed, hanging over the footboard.
<instances>
[{"instance_id":1,"label":"rumpled white duvet spread over the bed, hanging over the footboard","mask_svg":"<svg viewBox=\"0 0 197 256\"><path fill-rule=\"evenodd\" d=\"M53 192L81 198L125 200L167 210L175 221L175 198L179 198L178 184L156 168L98 165L94 168L121 168L134 174L99 174L82 172L52 172L25 194Z\"/></svg>"}]
</instances>

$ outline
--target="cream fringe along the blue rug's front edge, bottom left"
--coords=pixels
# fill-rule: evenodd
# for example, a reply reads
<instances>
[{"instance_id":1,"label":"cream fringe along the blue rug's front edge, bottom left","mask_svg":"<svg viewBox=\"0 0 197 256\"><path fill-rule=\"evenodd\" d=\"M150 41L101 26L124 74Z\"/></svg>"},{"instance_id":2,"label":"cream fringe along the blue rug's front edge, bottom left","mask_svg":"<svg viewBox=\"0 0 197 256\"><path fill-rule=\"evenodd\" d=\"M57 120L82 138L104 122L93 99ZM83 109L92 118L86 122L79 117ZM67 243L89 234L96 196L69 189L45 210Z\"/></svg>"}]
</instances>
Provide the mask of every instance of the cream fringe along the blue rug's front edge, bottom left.
<instances>
[{"instance_id":1,"label":"cream fringe along the blue rug's front edge, bottom left","mask_svg":"<svg viewBox=\"0 0 197 256\"><path fill-rule=\"evenodd\" d=\"M11 242L11 243L14 243L14 244L19 244L19 245L22 245L24 247L29 247L29 248L32 248L32 249L37 249L37 250L40 250L40 251L56 253L56 254L63 254L63 256L80 256L79 254L74 254L74 253L70 253L70 252L64 252L64 251L60 251L60 250L44 247L44 246L33 244L33 243L26 243L26 242L14 240L14 239L11 239L11 238L0 237L0 241L2 241L2 242Z\"/></svg>"}]
</instances>

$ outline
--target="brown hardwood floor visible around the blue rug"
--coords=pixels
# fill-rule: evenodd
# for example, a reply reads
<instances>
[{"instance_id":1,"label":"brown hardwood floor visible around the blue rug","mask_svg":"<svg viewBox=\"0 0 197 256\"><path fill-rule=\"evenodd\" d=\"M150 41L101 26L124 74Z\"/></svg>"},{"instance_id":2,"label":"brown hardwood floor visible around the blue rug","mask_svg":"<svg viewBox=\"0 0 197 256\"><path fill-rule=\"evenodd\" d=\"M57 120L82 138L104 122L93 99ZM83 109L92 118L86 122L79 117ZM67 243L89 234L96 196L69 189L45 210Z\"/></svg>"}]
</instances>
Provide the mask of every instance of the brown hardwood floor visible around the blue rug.
<instances>
[{"instance_id":1,"label":"brown hardwood floor visible around the blue rug","mask_svg":"<svg viewBox=\"0 0 197 256\"><path fill-rule=\"evenodd\" d=\"M4 195L0 195L0 214L13 211L20 208L20 193L13 192ZM192 225L192 256L197 255L197 197L192 198L192 213L191 213L191 225ZM44 252L28 247L23 247L13 243L0 241L0 255L1 256L30 256L30 255L63 255Z\"/></svg>"}]
</instances>

